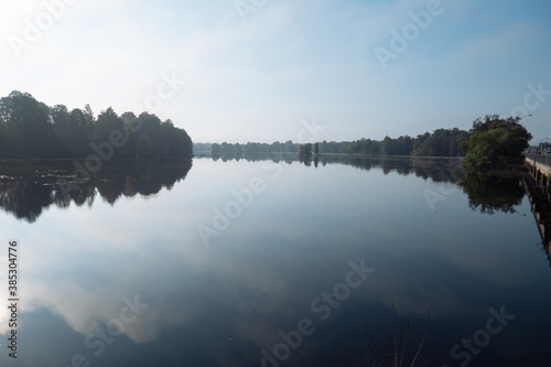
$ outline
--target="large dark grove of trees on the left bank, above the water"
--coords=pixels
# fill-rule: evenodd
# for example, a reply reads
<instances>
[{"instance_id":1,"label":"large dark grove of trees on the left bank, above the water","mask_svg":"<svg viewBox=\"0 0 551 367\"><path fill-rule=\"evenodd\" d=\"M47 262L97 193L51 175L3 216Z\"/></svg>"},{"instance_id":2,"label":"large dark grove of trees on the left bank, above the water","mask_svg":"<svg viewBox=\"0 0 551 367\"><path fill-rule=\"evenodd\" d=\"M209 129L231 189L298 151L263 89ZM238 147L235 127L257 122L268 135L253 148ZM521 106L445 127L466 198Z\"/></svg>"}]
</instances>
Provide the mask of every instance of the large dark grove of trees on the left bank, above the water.
<instances>
[{"instance_id":1,"label":"large dark grove of trees on the left bank, above the water","mask_svg":"<svg viewBox=\"0 0 551 367\"><path fill-rule=\"evenodd\" d=\"M89 105L48 107L18 90L0 98L0 159L78 159L106 144L117 159L193 155L187 132L152 114L118 116L109 107L96 118Z\"/></svg>"}]
</instances>

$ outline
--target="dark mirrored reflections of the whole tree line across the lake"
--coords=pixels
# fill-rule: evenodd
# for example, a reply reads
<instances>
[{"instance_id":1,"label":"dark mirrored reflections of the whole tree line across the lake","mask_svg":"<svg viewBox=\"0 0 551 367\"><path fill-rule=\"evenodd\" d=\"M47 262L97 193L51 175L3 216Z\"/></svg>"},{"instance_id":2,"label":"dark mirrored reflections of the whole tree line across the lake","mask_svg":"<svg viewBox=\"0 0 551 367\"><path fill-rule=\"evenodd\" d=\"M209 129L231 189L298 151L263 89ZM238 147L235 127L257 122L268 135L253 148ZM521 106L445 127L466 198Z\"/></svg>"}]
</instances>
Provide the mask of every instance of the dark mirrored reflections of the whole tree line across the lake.
<instances>
[{"instance_id":1,"label":"dark mirrored reflections of the whole tree line across the lake","mask_svg":"<svg viewBox=\"0 0 551 367\"><path fill-rule=\"evenodd\" d=\"M471 208L486 214L514 213L515 206L520 204L525 195L519 176L464 177L460 159L322 155L299 160L291 154L247 154L213 160L270 160L274 163L301 163L306 166L312 166L313 163L316 169L344 164L365 171L381 170L385 175L397 172L400 175L412 174L423 180L430 179L436 183L458 183L468 194ZM77 206L91 206L96 193L115 204L121 196L149 196L163 187L171 190L176 182L185 179L191 168L191 160L110 164L83 180L75 174L75 168L69 162L3 162L0 164L0 206L17 218L33 223L44 208L53 204L68 207L74 202ZM64 185L60 185L60 181Z\"/></svg>"}]
</instances>

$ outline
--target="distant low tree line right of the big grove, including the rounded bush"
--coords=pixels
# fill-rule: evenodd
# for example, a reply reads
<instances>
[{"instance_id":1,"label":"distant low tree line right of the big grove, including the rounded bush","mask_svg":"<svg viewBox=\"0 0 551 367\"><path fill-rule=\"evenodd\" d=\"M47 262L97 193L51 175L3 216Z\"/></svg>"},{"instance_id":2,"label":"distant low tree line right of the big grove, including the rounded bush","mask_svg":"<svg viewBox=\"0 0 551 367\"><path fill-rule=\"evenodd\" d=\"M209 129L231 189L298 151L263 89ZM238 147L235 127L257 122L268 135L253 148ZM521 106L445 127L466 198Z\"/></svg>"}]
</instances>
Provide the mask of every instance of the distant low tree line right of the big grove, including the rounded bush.
<instances>
[{"instance_id":1,"label":"distant low tree line right of the big grove, including the rounded bush","mask_svg":"<svg viewBox=\"0 0 551 367\"><path fill-rule=\"evenodd\" d=\"M304 144L287 142L258 143L196 143L194 153L199 156L233 160L256 154L299 158L309 163L321 156L417 156L458 158L467 175L518 174L522 171L522 152L529 147L532 136L519 122L520 117L501 118L487 115L473 121L468 131L437 129L415 138L401 136L392 139L355 141L322 141Z\"/></svg>"}]
</instances>

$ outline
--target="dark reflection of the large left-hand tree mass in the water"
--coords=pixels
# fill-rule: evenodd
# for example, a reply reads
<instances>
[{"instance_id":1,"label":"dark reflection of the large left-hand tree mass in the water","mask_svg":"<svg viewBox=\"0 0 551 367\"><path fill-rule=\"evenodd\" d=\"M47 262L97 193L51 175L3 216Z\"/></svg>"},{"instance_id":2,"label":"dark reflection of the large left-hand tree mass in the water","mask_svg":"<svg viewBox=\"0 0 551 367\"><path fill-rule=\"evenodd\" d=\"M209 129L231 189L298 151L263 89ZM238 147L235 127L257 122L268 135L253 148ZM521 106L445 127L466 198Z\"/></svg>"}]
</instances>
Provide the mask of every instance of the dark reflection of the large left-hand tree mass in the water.
<instances>
[{"instance_id":1,"label":"dark reflection of the large left-hand tree mass in the water","mask_svg":"<svg viewBox=\"0 0 551 367\"><path fill-rule=\"evenodd\" d=\"M73 202L77 206L91 206L96 193L115 204L122 195L148 196L163 187L171 190L176 182L185 179L191 168L191 159L133 161L125 165L110 163L89 179L83 179L74 174L74 166L67 161L2 163L0 207L17 218L32 223L52 204L68 207ZM61 185L61 182L64 184Z\"/></svg>"}]
</instances>

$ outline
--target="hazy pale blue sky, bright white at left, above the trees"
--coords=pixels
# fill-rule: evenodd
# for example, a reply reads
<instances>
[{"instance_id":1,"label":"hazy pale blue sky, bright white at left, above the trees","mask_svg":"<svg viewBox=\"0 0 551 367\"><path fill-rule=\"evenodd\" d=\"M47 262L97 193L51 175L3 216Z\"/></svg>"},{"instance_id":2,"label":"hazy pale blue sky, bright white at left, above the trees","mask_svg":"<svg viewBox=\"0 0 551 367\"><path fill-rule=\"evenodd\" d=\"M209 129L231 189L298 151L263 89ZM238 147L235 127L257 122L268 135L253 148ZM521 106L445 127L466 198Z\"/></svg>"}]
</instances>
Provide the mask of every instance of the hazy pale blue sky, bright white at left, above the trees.
<instances>
[{"instance_id":1,"label":"hazy pale blue sky, bright white at left, above the trees","mask_svg":"<svg viewBox=\"0 0 551 367\"><path fill-rule=\"evenodd\" d=\"M550 14L549 0L1 0L0 96L149 110L196 142L296 141L314 119L318 140L382 139L527 112L538 142Z\"/></svg>"}]
</instances>

